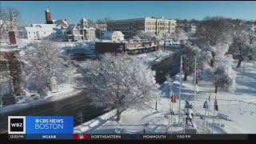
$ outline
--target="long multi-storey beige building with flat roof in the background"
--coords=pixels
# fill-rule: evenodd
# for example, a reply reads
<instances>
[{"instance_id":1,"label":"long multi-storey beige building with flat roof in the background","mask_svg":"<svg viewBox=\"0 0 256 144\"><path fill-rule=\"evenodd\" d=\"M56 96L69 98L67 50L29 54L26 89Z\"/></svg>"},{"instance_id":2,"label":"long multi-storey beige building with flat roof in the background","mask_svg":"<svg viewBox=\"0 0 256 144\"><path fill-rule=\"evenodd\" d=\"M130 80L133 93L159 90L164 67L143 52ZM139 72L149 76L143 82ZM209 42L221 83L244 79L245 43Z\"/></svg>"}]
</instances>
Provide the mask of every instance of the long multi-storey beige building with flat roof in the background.
<instances>
[{"instance_id":1,"label":"long multi-storey beige building with flat roof in the background","mask_svg":"<svg viewBox=\"0 0 256 144\"><path fill-rule=\"evenodd\" d=\"M176 21L166 18L134 18L107 21L107 30L122 31L126 38L132 38L138 30L158 36L164 36L175 31Z\"/></svg>"}]
</instances>

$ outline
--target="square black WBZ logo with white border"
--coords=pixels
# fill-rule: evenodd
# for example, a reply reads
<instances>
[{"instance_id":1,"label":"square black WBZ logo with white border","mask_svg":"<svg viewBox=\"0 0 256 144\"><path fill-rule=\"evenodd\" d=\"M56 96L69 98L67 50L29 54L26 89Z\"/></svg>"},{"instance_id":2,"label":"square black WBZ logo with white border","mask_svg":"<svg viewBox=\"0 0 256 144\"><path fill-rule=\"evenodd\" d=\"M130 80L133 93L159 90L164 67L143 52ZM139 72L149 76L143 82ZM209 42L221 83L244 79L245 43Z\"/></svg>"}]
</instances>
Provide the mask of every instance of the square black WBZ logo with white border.
<instances>
[{"instance_id":1,"label":"square black WBZ logo with white border","mask_svg":"<svg viewBox=\"0 0 256 144\"><path fill-rule=\"evenodd\" d=\"M26 134L26 116L8 116L8 134Z\"/></svg>"}]
</instances>

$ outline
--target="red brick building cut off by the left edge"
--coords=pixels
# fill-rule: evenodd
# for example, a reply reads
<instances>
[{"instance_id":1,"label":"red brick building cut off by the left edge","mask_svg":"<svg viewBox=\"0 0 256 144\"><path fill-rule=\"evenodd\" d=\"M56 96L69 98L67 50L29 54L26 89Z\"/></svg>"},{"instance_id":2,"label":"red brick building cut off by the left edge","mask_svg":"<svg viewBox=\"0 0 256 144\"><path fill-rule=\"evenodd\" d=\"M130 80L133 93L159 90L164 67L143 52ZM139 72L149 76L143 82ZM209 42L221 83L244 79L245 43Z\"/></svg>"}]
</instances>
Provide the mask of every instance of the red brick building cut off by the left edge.
<instances>
[{"instance_id":1,"label":"red brick building cut off by the left edge","mask_svg":"<svg viewBox=\"0 0 256 144\"><path fill-rule=\"evenodd\" d=\"M0 105L16 102L15 95L22 94L22 63L18 60L19 50L1 50L0 52Z\"/></svg>"}]
</instances>

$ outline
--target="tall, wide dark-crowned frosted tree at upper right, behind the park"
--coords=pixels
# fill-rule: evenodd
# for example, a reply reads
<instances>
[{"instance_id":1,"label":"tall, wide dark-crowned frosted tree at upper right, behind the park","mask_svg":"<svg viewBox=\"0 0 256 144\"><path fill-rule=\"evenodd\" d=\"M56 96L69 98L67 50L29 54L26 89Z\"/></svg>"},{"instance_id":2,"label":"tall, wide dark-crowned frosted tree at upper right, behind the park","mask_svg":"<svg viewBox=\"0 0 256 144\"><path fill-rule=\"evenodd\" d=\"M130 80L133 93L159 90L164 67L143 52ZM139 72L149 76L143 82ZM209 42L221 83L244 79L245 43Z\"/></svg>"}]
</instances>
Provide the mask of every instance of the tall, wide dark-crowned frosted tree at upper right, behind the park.
<instances>
[{"instance_id":1,"label":"tall, wide dark-crowned frosted tree at upper right, behind the park","mask_svg":"<svg viewBox=\"0 0 256 144\"><path fill-rule=\"evenodd\" d=\"M194 42L201 50L210 51L211 67L214 67L214 61L218 59L216 55L222 57L232 44L232 29L230 20L222 17L206 17L198 26L197 33L200 38Z\"/></svg>"}]
</instances>

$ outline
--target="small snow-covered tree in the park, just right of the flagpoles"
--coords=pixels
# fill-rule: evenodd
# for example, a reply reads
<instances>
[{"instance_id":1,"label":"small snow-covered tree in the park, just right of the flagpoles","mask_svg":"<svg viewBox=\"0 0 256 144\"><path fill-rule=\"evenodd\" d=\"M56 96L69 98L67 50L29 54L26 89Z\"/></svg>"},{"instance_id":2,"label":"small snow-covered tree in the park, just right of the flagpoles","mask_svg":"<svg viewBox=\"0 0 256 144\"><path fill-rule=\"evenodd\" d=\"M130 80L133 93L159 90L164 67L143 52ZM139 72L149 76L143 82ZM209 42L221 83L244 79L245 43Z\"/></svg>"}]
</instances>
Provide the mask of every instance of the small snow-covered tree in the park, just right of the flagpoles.
<instances>
[{"instance_id":1,"label":"small snow-covered tree in the park, just right of the flagpoles","mask_svg":"<svg viewBox=\"0 0 256 144\"><path fill-rule=\"evenodd\" d=\"M233 92L235 90L235 78L236 74L230 66L209 68L204 73L204 79L214 83L214 93L218 92L218 88Z\"/></svg>"}]
</instances>

